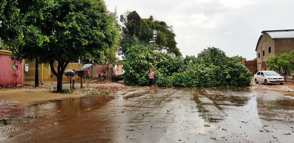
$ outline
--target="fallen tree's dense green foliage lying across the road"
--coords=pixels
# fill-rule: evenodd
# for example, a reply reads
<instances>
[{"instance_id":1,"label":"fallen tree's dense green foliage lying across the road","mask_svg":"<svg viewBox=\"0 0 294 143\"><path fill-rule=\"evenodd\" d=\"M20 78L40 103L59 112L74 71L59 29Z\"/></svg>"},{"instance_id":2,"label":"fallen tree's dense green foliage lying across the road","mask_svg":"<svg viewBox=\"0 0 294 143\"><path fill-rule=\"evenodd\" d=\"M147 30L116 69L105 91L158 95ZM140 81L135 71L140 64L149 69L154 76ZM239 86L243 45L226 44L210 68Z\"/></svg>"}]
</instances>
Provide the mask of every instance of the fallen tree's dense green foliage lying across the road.
<instances>
[{"instance_id":1,"label":"fallen tree's dense green foliage lying across the road","mask_svg":"<svg viewBox=\"0 0 294 143\"><path fill-rule=\"evenodd\" d=\"M153 68L154 84L164 87L243 87L251 83L251 72L240 59L229 58L217 48L204 49L198 57L173 58L158 51L158 45L137 45L126 51L124 82L148 85Z\"/></svg>"}]
</instances>

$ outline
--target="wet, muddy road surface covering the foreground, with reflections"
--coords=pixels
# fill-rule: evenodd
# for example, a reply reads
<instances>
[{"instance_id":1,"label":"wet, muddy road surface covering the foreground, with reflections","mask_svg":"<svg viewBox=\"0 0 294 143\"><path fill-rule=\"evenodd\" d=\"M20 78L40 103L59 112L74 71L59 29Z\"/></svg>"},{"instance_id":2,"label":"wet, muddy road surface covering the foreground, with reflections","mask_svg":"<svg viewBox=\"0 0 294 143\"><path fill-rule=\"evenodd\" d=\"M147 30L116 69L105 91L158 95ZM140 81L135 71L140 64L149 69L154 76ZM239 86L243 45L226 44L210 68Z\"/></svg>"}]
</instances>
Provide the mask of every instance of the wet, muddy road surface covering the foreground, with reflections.
<instances>
[{"instance_id":1,"label":"wet, muddy road surface covering the foreground, with reflections","mask_svg":"<svg viewBox=\"0 0 294 143\"><path fill-rule=\"evenodd\" d=\"M294 98L248 88L140 89L5 107L11 124L0 128L1 142L294 142Z\"/></svg>"}]
</instances>

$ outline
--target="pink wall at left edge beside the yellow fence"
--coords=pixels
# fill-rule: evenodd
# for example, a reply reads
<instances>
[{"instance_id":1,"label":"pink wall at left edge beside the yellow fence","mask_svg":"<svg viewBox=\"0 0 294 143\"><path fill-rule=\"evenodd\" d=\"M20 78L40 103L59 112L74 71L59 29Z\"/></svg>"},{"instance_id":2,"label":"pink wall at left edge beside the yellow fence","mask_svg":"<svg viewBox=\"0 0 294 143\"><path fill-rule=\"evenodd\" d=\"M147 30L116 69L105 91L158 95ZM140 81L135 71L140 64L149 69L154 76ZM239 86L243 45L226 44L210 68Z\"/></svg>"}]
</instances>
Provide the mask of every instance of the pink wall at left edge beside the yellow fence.
<instances>
[{"instance_id":1,"label":"pink wall at left edge beside the yellow fence","mask_svg":"<svg viewBox=\"0 0 294 143\"><path fill-rule=\"evenodd\" d=\"M20 62L12 56L0 55L0 88L22 86L24 66ZM15 63L17 70L12 70L12 63Z\"/></svg>"}]
</instances>

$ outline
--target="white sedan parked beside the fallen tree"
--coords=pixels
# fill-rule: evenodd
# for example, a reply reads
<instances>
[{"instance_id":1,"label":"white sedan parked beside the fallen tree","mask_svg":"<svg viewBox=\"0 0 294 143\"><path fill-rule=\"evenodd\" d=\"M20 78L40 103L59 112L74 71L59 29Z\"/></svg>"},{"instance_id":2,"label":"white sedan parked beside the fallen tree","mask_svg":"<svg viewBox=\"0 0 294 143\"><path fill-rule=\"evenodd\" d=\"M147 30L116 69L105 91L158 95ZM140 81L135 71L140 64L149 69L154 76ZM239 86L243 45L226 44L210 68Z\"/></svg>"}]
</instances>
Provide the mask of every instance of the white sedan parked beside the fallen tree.
<instances>
[{"instance_id":1,"label":"white sedan parked beside the fallen tree","mask_svg":"<svg viewBox=\"0 0 294 143\"><path fill-rule=\"evenodd\" d=\"M263 82L265 85L270 83L280 83L281 85L284 84L284 78L275 71L259 71L254 74L253 79L256 84L258 84L258 82Z\"/></svg>"}]
</instances>

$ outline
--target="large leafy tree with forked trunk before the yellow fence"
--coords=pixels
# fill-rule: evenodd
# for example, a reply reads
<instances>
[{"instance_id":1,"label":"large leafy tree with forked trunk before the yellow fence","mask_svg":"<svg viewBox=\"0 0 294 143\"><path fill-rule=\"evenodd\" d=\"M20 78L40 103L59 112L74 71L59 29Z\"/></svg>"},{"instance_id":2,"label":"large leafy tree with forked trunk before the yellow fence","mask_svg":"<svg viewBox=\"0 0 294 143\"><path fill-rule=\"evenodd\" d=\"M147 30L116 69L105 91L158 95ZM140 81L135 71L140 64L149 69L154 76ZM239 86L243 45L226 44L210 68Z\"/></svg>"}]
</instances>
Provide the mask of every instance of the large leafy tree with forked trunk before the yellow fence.
<instances>
[{"instance_id":1,"label":"large leafy tree with forked trunk before the yellow fence","mask_svg":"<svg viewBox=\"0 0 294 143\"><path fill-rule=\"evenodd\" d=\"M23 34L24 44L9 45L10 49L18 57L49 62L57 91L62 91L63 72L70 61L106 60L105 53L118 47L115 14L107 11L102 0L19 0L16 7L21 21L36 30Z\"/></svg>"}]
</instances>

